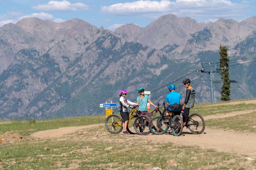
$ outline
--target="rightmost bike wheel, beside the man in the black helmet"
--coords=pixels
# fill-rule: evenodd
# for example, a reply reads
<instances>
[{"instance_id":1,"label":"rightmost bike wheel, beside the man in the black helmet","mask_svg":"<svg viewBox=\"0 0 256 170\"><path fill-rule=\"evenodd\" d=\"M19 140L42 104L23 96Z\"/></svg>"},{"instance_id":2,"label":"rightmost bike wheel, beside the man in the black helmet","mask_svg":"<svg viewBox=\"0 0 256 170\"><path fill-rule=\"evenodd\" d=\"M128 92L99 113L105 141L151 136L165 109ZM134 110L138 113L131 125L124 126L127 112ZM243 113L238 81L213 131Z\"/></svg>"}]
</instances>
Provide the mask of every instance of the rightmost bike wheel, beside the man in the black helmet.
<instances>
[{"instance_id":1,"label":"rightmost bike wheel, beside the man in the black helmet","mask_svg":"<svg viewBox=\"0 0 256 170\"><path fill-rule=\"evenodd\" d=\"M205 120L198 113L192 113L188 117L188 128L194 134L201 134L205 130Z\"/></svg>"}]
</instances>

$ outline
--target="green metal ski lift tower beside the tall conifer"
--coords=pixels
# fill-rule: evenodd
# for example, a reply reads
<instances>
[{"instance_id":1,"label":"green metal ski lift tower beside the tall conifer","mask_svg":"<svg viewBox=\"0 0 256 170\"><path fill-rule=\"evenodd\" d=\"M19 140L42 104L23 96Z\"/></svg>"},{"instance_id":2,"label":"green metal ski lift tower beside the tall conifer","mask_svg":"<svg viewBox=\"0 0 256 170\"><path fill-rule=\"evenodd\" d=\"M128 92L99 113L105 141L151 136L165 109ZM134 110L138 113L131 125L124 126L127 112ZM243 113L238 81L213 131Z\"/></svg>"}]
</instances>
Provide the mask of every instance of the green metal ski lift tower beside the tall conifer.
<instances>
[{"instance_id":1,"label":"green metal ski lift tower beside the tall conifer","mask_svg":"<svg viewBox=\"0 0 256 170\"><path fill-rule=\"evenodd\" d=\"M212 73L219 73L223 71L223 69L217 68L217 65L219 64L219 62L203 62L201 64L202 64L202 68L197 71L201 71L202 73L209 73L211 102L215 103L214 76Z\"/></svg>"}]
</instances>

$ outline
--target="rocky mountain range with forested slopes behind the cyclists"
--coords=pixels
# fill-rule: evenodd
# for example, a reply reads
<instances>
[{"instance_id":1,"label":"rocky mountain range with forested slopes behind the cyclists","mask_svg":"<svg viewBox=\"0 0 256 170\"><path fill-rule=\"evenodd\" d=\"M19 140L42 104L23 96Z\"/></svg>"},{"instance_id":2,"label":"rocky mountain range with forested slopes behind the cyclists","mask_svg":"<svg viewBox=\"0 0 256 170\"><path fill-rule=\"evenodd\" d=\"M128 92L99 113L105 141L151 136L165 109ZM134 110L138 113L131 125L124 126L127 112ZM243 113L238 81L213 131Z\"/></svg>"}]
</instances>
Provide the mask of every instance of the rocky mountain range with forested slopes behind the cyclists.
<instances>
[{"instance_id":1,"label":"rocky mountain range with forested slopes behind the cyclists","mask_svg":"<svg viewBox=\"0 0 256 170\"><path fill-rule=\"evenodd\" d=\"M6 24L0 27L0 117L104 114L100 103L118 102L120 89L127 89L127 99L133 101L139 87L153 92L154 103L162 102L169 83L185 95L185 77L194 80L196 102L210 102L209 77L194 70L202 67L200 62L219 62L220 44L235 64L254 57L255 21L254 16L242 22L220 18L198 23L165 15L145 28L131 23L114 32L77 18L62 23L24 18ZM231 85L231 99L255 98L255 64L239 63L230 67L230 79L238 80ZM214 76L220 79L218 73Z\"/></svg>"}]
</instances>

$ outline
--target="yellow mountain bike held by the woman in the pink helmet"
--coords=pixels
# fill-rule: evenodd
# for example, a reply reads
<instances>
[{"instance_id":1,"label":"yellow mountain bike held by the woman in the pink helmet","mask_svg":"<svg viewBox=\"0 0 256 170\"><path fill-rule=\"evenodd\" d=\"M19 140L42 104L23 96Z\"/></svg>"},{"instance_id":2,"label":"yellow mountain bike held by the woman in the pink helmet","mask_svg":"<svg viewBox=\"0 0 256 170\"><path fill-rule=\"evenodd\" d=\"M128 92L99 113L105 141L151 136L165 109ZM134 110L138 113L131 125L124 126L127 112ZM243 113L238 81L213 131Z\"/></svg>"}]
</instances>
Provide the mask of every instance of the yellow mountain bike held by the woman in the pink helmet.
<instances>
[{"instance_id":1,"label":"yellow mountain bike held by the woman in the pink helmet","mask_svg":"<svg viewBox=\"0 0 256 170\"><path fill-rule=\"evenodd\" d=\"M131 115L128 119L127 131L130 134L149 134L148 122L151 118L146 115L138 115L135 107L129 113ZM118 115L111 114L106 118L105 126L110 133L119 134L123 130L123 119Z\"/></svg>"}]
</instances>

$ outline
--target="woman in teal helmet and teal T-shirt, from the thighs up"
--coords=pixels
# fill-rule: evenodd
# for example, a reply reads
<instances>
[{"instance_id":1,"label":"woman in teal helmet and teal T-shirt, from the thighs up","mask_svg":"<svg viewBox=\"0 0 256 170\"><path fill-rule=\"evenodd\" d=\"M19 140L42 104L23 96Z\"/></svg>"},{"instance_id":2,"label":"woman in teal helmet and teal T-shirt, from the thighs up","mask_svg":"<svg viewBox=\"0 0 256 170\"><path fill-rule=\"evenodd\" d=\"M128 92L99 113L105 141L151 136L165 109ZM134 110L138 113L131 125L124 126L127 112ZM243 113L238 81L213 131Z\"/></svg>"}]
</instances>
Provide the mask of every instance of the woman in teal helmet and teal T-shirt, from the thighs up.
<instances>
[{"instance_id":1,"label":"woman in teal helmet and teal T-shirt, from the thighs up","mask_svg":"<svg viewBox=\"0 0 256 170\"><path fill-rule=\"evenodd\" d=\"M156 106L149 99L149 97L147 95L144 95L144 90L145 90L144 88L139 88L138 89L138 92L140 94L140 96L137 97L137 104L140 104L138 111L139 111L140 115L147 115L147 116L149 116L148 111L147 111L147 102L149 102L155 108L158 108L158 106Z\"/></svg>"}]
</instances>

